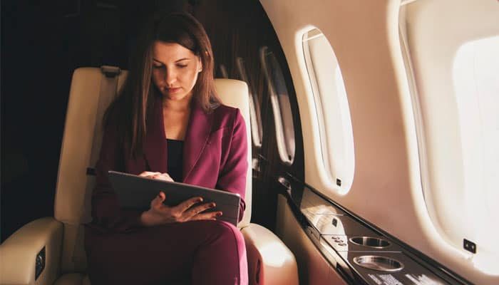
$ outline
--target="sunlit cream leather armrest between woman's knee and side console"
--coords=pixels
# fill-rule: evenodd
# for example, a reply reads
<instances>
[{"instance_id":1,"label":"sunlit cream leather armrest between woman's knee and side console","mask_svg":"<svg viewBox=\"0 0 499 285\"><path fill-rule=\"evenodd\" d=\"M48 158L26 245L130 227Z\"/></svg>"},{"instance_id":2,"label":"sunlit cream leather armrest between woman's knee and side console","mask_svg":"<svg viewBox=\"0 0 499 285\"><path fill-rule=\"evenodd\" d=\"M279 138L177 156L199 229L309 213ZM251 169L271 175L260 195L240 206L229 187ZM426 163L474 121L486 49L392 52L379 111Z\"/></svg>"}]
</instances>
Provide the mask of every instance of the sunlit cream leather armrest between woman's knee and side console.
<instances>
[{"instance_id":1,"label":"sunlit cream leather armrest between woman's knee and side console","mask_svg":"<svg viewBox=\"0 0 499 285\"><path fill-rule=\"evenodd\" d=\"M297 261L279 237L258 224L241 229L248 256L249 284L298 285Z\"/></svg>"}]
</instances>

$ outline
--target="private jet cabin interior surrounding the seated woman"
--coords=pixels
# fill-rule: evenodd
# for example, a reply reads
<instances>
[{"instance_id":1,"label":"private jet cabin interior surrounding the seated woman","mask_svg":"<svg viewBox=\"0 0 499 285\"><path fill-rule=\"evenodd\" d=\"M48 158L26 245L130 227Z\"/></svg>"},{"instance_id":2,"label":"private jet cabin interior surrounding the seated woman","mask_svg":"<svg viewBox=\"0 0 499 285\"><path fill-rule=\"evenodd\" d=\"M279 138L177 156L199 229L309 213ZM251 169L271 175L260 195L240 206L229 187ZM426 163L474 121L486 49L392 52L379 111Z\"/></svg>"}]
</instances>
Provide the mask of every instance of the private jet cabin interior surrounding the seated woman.
<instances>
[{"instance_id":1,"label":"private jet cabin interior surrounding the seated woman","mask_svg":"<svg viewBox=\"0 0 499 285\"><path fill-rule=\"evenodd\" d=\"M1 1L0 284L91 284L100 122L157 11L245 120L249 284L499 284L497 0Z\"/></svg>"}]
</instances>

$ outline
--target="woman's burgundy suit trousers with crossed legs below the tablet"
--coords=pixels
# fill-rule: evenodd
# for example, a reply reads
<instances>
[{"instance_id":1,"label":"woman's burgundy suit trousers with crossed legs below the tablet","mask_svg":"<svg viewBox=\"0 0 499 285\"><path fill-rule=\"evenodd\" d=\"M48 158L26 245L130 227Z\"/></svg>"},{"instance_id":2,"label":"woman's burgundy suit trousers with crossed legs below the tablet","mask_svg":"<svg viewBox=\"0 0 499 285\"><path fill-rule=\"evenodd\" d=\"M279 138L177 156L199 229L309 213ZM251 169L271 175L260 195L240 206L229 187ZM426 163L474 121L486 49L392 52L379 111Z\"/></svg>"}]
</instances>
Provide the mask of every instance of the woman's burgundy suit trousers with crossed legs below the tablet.
<instances>
[{"instance_id":1,"label":"woman's burgundy suit trousers with crossed legs below the tablet","mask_svg":"<svg viewBox=\"0 0 499 285\"><path fill-rule=\"evenodd\" d=\"M92 285L248 283L245 239L226 222L165 224L123 234L87 228L85 239Z\"/></svg>"}]
</instances>

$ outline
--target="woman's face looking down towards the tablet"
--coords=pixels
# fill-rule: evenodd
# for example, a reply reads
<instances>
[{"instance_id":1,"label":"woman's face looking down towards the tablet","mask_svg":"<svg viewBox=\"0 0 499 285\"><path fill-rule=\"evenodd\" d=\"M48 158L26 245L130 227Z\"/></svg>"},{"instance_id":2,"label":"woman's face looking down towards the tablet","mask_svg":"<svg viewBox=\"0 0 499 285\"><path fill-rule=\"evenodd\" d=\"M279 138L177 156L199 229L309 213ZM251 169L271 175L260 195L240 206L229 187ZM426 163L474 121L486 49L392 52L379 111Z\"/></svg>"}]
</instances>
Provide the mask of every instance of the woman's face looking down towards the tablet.
<instances>
[{"instance_id":1,"label":"woman's face looking down towards the tablet","mask_svg":"<svg viewBox=\"0 0 499 285\"><path fill-rule=\"evenodd\" d=\"M178 43L155 41L153 45L153 83L163 98L190 100L197 74L202 70L200 58Z\"/></svg>"}]
</instances>

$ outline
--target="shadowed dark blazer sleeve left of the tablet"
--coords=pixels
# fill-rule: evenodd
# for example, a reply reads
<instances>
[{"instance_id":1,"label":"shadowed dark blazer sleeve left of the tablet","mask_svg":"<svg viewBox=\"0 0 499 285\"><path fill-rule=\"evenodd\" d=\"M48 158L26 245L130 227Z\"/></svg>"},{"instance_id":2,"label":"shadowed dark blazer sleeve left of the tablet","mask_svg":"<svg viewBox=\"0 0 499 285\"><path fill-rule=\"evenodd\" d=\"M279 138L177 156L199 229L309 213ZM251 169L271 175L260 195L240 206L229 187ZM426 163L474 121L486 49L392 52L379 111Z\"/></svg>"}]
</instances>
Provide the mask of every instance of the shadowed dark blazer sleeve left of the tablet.
<instances>
[{"instance_id":1,"label":"shadowed dark blazer sleeve left of the tablet","mask_svg":"<svg viewBox=\"0 0 499 285\"><path fill-rule=\"evenodd\" d=\"M125 232L140 227L138 210L120 209L108 179L109 170L122 170L123 147L118 145L118 134L113 128L106 128L103 134L101 152L96 163L96 185L92 193L92 225L105 231Z\"/></svg>"}]
</instances>

